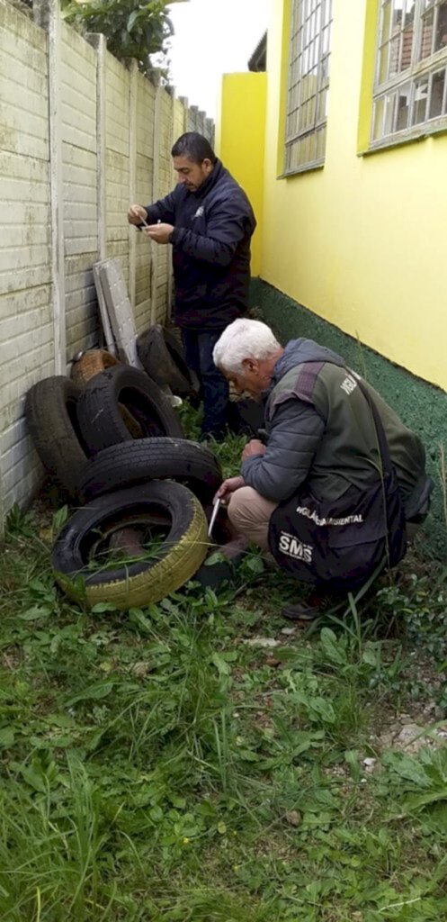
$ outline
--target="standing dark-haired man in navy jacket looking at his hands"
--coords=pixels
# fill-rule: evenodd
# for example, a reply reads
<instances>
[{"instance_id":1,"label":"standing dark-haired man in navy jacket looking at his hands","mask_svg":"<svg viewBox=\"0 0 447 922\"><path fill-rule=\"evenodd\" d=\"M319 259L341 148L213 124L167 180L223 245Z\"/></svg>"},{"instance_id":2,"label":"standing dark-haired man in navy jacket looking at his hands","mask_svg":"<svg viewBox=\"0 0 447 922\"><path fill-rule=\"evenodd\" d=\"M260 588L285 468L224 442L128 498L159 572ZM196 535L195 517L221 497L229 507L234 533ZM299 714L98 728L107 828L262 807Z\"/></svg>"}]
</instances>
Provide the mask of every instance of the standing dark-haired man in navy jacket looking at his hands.
<instances>
[{"instance_id":1,"label":"standing dark-haired man in navy jacket looking at his hands","mask_svg":"<svg viewBox=\"0 0 447 922\"><path fill-rule=\"evenodd\" d=\"M172 244L174 320L186 362L204 400L202 435L225 430L229 388L213 361L222 331L248 306L253 209L206 137L188 132L171 150L178 184L155 205L129 208L127 219L150 240Z\"/></svg>"}]
</instances>

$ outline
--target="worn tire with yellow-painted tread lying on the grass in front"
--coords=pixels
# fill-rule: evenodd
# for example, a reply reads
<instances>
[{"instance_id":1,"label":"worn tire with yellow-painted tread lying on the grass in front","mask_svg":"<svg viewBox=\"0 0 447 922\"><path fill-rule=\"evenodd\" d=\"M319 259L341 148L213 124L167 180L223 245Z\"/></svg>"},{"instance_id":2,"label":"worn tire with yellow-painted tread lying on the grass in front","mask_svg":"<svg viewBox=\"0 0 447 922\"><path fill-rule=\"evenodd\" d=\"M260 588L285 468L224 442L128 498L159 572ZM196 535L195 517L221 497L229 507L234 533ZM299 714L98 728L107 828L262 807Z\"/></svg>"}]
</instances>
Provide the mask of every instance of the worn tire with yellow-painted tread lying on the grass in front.
<instances>
[{"instance_id":1,"label":"worn tire with yellow-painted tread lying on the grass in front","mask_svg":"<svg viewBox=\"0 0 447 922\"><path fill-rule=\"evenodd\" d=\"M157 558L116 563L92 572L90 554L99 532L116 535L126 526L165 526ZM194 494L179 483L157 481L109 493L88 503L62 529L52 555L53 570L67 595L88 606L112 602L119 609L159 602L199 569L208 548L206 515Z\"/></svg>"}]
</instances>

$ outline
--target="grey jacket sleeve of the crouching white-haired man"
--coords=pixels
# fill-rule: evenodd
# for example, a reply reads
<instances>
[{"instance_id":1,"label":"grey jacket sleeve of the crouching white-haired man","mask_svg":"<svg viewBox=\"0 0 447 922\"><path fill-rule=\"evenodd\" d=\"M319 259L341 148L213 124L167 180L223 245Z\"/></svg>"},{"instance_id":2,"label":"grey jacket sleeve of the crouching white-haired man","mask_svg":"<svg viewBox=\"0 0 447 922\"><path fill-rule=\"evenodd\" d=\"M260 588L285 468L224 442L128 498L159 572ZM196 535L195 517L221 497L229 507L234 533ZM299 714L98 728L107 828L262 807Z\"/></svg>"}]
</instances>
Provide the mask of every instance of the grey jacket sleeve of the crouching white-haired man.
<instances>
[{"instance_id":1,"label":"grey jacket sleeve of the crouching white-haired man","mask_svg":"<svg viewBox=\"0 0 447 922\"><path fill-rule=\"evenodd\" d=\"M287 500L307 478L324 421L312 406L291 398L278 405L265 455L242 462L245 483L272 502Z\"/></svg>"}]
</instances>

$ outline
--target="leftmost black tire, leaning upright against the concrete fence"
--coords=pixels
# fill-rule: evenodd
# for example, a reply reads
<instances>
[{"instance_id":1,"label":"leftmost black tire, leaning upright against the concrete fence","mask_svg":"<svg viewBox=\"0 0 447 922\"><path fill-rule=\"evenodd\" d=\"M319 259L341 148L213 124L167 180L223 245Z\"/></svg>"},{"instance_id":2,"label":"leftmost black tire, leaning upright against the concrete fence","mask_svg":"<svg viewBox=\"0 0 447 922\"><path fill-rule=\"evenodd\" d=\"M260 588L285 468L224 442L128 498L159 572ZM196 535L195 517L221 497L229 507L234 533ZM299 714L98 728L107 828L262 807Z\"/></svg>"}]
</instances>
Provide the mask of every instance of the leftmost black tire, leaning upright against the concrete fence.
<instances>
[{"instance_id":1,"label":"leftmost black tire, leaning upright against the concrete fence","mask_svg":"<svg viewBox=\"0 0 447 922\"><path fill-rule=\"evenodd\" d=\"M77 484L88 454L77 422L81 388L55 375L29 389L25 416L43 467L69 493L77 497Z\"/></svg>"}]
</instances>

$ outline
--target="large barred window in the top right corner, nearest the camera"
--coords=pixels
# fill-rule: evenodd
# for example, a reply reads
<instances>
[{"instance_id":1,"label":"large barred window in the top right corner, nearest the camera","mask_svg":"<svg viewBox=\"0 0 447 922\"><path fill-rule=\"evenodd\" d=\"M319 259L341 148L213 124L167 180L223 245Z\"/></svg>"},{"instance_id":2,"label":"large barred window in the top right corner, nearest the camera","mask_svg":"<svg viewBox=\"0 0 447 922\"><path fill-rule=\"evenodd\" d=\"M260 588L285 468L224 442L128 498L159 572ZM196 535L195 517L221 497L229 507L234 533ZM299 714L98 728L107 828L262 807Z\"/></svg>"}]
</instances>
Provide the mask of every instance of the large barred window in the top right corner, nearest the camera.
<instances>
[{"instance_id":1,"label":"large barred window in the top right corner, nearest the camera","mask_svg":"<svg viewBox=\"0 0 447 922\"><path fill-rule=\"evenodd\" d=\"M447 127L447 0L381 0L371 146Z\"/></svg>"}]
</instances>

